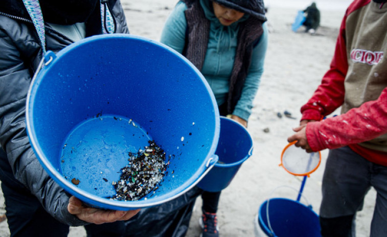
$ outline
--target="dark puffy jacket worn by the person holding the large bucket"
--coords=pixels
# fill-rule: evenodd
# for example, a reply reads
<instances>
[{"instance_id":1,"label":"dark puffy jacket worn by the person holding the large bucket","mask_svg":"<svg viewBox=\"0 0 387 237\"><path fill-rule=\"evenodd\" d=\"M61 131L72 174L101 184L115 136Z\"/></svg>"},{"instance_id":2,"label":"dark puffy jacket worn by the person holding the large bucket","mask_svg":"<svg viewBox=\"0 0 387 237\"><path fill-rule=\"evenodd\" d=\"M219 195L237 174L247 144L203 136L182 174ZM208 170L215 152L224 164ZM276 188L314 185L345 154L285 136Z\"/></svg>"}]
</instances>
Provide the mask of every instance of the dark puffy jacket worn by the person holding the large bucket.
<instances>
[{"instance_id":1,"label":"dark puffy jacket worn by the person holding the large bucket","mask_svg":"<svg viewBox=\"0 0 387 237\"><path fill-rule=\"evenodd\" d=\"M120 1L110 0L117 33L129 33ZM97 4L86 21L86 37L102 34ZM58 52L73 41L45 25L46 49ZM26 99L31 79L42 57L35 27L21 0L3 0L0 6L0 180L9 187L32 193L57 220L83 225L67 211L69 194L56 184L37 160L26 132ZM48 108L49 109L49 108Z\"/></svg>"}]
</instances>

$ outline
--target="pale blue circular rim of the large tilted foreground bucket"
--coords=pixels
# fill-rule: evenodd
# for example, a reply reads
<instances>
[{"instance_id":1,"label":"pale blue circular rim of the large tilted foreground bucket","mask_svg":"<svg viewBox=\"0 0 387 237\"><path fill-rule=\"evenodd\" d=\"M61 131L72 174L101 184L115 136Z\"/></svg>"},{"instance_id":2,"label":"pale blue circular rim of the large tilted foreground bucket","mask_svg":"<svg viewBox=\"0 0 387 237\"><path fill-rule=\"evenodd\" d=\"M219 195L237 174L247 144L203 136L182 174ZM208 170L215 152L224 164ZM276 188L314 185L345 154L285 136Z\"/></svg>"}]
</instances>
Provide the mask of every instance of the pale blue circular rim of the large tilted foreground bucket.
<instances>
[{"instance_id":1,"label":"pale blue circular rim of the large tilted foreground bucket","mask_svg":"<svg viewBox=\"0 0 387 237\"><path fill-rule=\"evenodd\" d=\"M208 84L207 80L202 76L200 71L193 65L192 62L190 62L187 58L185 58L183 55L179 54L177 51L174 49L170 48L169 46L166 46L162 44L161 42L157 42L153 39L149 39L143 36L138 36L138 35L130 35L130 34L121 34L121 33L116 33L116 34L103 34L103 35L95 35L95 36L90 36L84 39L81 39L77 42L74 42L73 44L61 49L59 52L56 54L49 51L45 55L45 57L42 58L42 61L40 62L39 67L44 64L45 61L49 60L51 62L52 58L49 59L49 56L52 55L54 57L60 57L65 55L66 53L69 53L72 51L74 48L79 47L81 44L88 44L92 41L95 40L104 40L107 38L130 38L134 40L139 40L139 41L145 41L149 43L150 45L155 45L160 48L164 48L167 51L170 51L174 55L176 55L180 60L183 60L185 63L189 64L191 66L192 70L195 71L198 74L198 77L201 79L201 82L203 85L206 87L208 91L211 92L210 85ZM49 64L47 62L46 64ZM46 65L47 66L47 65ZM48 67L49 68L49 67ZM209 93L211 97L211 102L214 107L214 113L215 113L215 126L214 126L214 136L213 136L213 141L211 144L211 147L208 151L208 154L206 158L203 159L202 164L198 167L198 169L195 171L195 173L192 175L191 178L187 179L183 185L180 185L176 189L174 189L174 194L171 195L170 197L166 197L165 199L161 199L158 201L153 201L153 199L141 199L137 201L118 201L118 200L110 200L106 199L103 197L98 197L96 195L93 195L92 193L86 192L81 188L76 187L75 185L72 185L69 180L66 180L62 174L59 173L59 171L49 162L49 159L47 156L44 155L43 149L41 148L40 144L38 143L36 133L35 133L35 128L33 126L33 112L30 109L33 107L34 104L34 96L33 93L36 92L38 84L41 82L43 75L47 72L47 69L41 68L40 72L37 70L37 73L34 75L30 82L30 87L28 90L27 94L27 100L26 100L26 128L27 128L27 134L28 138L31 144L31 147L34 151L34 155L36 158L40 161L42 164L43 168L47 173L50 175L50 177L65 191L69 192L71 195L81 199L81 201L86 202L87 204L90 205L96 205L97 208L106 208L106 209L116 209L116 210L130 210L130 209L138 209L138 208L145 208L145 207L151 207L151 206L157 206L160 204L163 204L165 202L171 201L181 195L184 195L187 191L192 189L203 177L203 174L207 174L208 171L214 167L214 165L206 166L206 164L210 163L210 159L214 159L215 155L215 150L218 144L219 140L219 134L220 134L220 116L219 116L219 111L216 109L217 108L217 103L215 96L213 93ZM164 194L163 194L164 195ZM157 196L156 196L157 197ZM160 196L159 196L160 197Z\"/></svg>"}]
</instances>

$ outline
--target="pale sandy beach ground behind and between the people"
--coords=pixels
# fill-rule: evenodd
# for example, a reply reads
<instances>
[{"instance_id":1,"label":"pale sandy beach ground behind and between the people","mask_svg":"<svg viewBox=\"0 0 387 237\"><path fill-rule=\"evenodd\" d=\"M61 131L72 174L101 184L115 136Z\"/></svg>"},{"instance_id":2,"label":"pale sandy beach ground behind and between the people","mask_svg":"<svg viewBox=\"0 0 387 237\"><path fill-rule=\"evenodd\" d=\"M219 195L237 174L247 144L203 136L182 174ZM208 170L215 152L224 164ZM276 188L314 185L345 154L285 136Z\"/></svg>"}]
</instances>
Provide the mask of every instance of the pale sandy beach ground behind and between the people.
<instances>
[{"instance_id":1,"label":"pale sandy beach ground behind and between the people","mask_svg":"<svg viewBox=\"0 0 387 237\"><path fill-rule=\"evenodd\" d=\"M121 2L130 33L158 40L164 22L177 1ZM301 31L291 31L297 11L305 9L311 1L265 1L268 6L269 44L265 71L248 124L248 131L254 139L254 151L243 163L230 186L222 192L218 211L220 236L254 236L254 218L266 199L297 198L302 178L290 175L279 166L281 152L287 145L287 137L293 133L291 128L299 124L300 107L312 95L329 68L338 29L351 1L315 2L321 10L321 27L312 36ZM292 118L284 116L285 111ZM338 115L339 112L332 115L335 114ZM328 150L323 150L321 154L321 165L307 179L303 191L308 204L312 205L316 213L322 198L321 181ZM366 196L363 210L357 215L356 236L369 236L375 198L376 193L371 189ZM304 200L302 202L306 204ZM200 234L200 208L201 199L198 198L188 237ZM4 213L4 198L0 195L0 216ZM6 221L0 222L0 236L9 236ZM86 234L83 227L71 227L69 237L84 236Z\"/></svg>"}]
</instances>

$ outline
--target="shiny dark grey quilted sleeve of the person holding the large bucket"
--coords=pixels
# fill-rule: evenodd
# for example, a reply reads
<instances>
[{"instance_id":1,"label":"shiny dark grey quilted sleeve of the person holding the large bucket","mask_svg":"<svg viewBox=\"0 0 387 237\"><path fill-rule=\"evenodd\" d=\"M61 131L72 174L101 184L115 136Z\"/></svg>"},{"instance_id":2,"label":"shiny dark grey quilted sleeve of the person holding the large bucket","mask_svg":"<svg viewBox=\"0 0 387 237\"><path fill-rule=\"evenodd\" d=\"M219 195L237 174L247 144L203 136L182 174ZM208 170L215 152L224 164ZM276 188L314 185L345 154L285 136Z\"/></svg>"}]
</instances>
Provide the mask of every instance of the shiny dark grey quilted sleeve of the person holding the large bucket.
<instances>
[{"instance_id":1,"label":"shiny dark grey quilted sleeve of the person holding the large bucket","mask_svg":"<svg viewBox=\"0 0 387 237\"><path fill-rule=\"evenodd\" d=\"M45 210L63 223L84 225L67 211L69 194L44 171L26 132L26 98L31 82L26 58L39 54L40 47L28 27L15 30L4 27L15 24L12 19L2 16L0 21L0 145L7 153L16 180L38 198ZM24 39L24 44L18 44L16 37Z\"/></svg>"}]
</instances>

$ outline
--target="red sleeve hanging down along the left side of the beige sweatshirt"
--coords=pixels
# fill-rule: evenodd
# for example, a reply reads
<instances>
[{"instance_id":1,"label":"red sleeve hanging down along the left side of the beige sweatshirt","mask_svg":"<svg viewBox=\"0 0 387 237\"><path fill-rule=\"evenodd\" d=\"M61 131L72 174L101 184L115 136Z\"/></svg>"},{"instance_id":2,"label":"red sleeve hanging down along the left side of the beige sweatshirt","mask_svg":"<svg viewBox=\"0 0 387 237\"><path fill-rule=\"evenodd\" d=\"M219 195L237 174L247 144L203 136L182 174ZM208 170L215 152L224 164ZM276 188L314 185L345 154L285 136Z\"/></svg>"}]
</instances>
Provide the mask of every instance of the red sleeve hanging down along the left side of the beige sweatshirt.
<instances>
[{"instance_id":1,"label":"red sleeve hanging down along the left side of the beige sweatshirt","mask_svg":"<svg viewBox=\"0 0 387 237\"><path fill-rule=\"evenodd\" d=\"M301 107L302 119L321 120L331 114L344 102L344 80L348 71L346 49L346 20L354 10L367 5L371 0L355 0L347 9L340 26L336 49L330 69L308 102Z\"/></svg>"}]
</instances>

